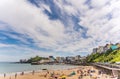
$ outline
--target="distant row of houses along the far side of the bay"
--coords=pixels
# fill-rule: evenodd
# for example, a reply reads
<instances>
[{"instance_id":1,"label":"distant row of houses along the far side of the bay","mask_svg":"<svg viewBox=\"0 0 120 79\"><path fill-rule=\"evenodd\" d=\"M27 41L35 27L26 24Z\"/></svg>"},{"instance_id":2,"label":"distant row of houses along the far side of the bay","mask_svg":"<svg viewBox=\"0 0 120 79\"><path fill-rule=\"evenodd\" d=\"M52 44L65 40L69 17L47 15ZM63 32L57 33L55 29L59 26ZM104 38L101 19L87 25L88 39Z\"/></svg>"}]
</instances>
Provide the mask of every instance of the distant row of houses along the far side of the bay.
<instances>
[{"instance_id":1,"label":"distant row of houses along the far side of the bay","mask_svg":"<svg viewBox=\"0 0 120 79\"><path fill-rule=\"evenodd\" d=\"M85 59L85 57L81 57L80 55L77 56L67 56L67 57L53 57L49 56L47 59L42 59L38 62L32 62L33 65L35 64L79 64L80 61Z\"/></svg>"}]
</instances>

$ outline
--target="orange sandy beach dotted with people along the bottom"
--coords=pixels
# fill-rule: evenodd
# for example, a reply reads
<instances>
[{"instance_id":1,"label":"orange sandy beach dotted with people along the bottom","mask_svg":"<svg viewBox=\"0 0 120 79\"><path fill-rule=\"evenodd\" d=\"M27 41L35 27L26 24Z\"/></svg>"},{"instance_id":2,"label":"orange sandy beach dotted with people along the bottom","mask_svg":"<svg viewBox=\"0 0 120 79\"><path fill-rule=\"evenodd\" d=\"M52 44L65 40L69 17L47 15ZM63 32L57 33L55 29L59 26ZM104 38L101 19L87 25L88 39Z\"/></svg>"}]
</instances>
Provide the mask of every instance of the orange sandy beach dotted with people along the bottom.
<instances>
[{"instance_id":1,"label":"orange sandy beach dotted with people along the bottom","mask_svg":"<svg viewBox=\"0 0 120 79\"><path fill-rule=\"evenodd\" d=\"M100 71L93 66L80 66L66 70L43 70L12 76L3 75L0 79L116 79Z\"/></svg>"}]
</instances>

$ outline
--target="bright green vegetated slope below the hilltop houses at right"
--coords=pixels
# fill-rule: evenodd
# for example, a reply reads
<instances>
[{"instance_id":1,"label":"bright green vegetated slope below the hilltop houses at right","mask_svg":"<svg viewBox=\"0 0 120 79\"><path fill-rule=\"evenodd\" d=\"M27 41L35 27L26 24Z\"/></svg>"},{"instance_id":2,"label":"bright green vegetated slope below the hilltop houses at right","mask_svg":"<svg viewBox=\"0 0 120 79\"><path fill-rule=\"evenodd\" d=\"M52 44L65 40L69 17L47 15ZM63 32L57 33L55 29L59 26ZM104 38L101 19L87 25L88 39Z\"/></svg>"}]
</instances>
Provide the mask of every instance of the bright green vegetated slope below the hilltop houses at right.
<instances>
[{"instance_id":1,"label":"bright green vegetated slope below the hilltop houses at right","mask_svg":"<svg viewBox=\"0 0 120 79\"><path fill-rule=\"evenodd\" d=\"M120 62L120 50L108 50L105 53L94 53L87 57L87 62Z\"/></svg>"}]
</instances>

